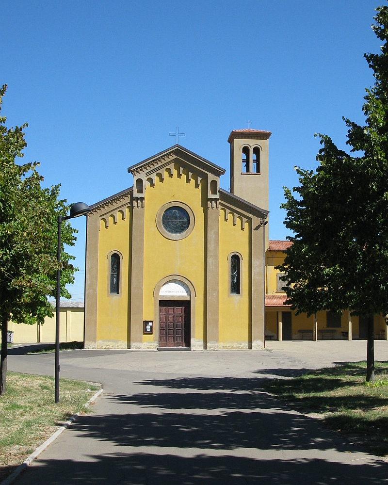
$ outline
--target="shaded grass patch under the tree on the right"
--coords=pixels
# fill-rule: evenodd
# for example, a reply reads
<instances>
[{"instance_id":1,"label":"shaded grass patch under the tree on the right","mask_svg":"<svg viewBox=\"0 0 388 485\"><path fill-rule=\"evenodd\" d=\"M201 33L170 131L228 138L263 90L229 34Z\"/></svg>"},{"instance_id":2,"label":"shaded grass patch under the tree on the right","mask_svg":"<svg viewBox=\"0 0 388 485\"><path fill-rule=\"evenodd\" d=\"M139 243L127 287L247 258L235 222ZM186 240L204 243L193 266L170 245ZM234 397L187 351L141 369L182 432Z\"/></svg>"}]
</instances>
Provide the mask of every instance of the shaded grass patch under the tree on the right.
<instances>
[{"instance_id":1,"label":"shaded grass patch under the tree on the right","mask_svg":"<svg viewBox=\"0 0 388 485\"><path fill-rule=\"evenodd\" d=\"M365 383L366 363L357 362L271 379L263 386L369 453L388 456L388 362L376 362L375 369L373 385Z\"/></svg>"}]
</instances>

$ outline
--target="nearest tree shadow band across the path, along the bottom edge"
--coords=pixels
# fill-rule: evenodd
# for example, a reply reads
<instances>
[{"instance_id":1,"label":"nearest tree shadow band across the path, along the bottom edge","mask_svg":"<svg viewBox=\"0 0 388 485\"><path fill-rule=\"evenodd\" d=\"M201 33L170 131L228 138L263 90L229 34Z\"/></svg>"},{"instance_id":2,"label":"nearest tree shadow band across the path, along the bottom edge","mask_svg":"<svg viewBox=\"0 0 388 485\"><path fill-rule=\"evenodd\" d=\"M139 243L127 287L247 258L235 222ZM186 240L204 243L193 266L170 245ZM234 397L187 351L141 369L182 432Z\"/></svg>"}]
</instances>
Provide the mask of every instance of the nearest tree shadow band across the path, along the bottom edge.
<instances>
[{"instance_id":1,"label":"nearest tree shadow band across the path, along the bottom edge","mask_svg":"<svg viewBox=\"0 0 388 485\"><path fill-rule=\"evenodd\" d=\"M42 460L39 467L29 467L17 484L382 485L387 482L387 469L373 464L345 465L324 459L115 453L90 461Z\"/></svg>"}]
</instances>

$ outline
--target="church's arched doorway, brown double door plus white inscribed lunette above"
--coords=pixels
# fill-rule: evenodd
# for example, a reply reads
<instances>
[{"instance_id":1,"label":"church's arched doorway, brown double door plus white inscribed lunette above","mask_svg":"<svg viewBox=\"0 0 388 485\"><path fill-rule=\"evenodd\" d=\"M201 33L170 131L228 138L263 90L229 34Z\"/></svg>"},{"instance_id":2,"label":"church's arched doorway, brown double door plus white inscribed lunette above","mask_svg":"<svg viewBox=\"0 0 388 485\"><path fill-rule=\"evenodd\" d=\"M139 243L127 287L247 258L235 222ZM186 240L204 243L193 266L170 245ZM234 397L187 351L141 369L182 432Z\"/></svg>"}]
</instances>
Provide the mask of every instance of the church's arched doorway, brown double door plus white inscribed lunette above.
<instances>
[{"instance_id":1,"label":"church's arched doorway, brown double door plus white inscribed lunette above","mask_svg":"<svg viewBox=\"0 0 388 485\"><path fill-rule=\"evenodd\" d=\"M189 287L179 280L164 283L159 291L159 347L190 347Z\"/></svg>"}]
</instances>

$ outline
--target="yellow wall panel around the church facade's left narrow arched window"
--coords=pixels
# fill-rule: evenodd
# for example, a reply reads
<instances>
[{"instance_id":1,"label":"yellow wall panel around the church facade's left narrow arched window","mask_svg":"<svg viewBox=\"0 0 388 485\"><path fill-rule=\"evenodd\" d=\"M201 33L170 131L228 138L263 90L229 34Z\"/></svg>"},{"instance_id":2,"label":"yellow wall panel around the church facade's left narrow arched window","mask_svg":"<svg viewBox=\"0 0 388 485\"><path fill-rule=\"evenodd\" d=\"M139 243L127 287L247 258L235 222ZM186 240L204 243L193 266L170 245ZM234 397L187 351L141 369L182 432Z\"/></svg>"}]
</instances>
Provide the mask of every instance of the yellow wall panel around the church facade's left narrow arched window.
<instances>
[{"instance_id":1,"label":"yellow wall panel around the church facade's left narrow arched window","mask_svg":"<svg viewBox=\"0 0 388 485\"><path fill-rule=\"evenodd\" d=\"M100 222L98 240L98 302L97 302L97 347L127 348L128 295L130 265L130 212L126 210L125 220L121 210L117 222L113 216L109 225ZM110 253L122 254L120 294L109 293ZM108 257L109 256L109 257Z\"/></svg>"}]
</instances>

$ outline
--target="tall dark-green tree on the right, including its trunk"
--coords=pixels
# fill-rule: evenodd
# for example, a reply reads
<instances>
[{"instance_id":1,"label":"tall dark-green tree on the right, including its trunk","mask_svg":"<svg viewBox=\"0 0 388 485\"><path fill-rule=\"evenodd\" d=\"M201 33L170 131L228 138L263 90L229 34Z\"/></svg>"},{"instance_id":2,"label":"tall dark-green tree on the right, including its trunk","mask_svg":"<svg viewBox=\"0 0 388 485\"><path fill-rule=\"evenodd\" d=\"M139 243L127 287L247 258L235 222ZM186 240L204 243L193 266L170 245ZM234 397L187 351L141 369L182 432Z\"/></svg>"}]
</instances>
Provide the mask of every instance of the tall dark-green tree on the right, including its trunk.
<instances>
[{"instance_id":1,"label":"tall dark-green tree on the right, including its trunk","mask_svg":"<svg viewBox=\"0 0 388 485\"><path fill-rule=\"evenodd\" d=\"M293 236L279 269L291 308L368 318L367 381L374 381L374 314L388 313L388 7L378 7L380 54L365 54L374 85L366 89L365 126L344 119L346 153L326 135L315 171L295 167L298 187L285 188L285 225Z\"/></svg>"}]
</instances>

